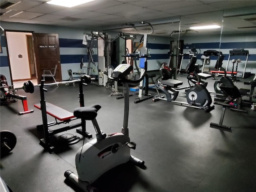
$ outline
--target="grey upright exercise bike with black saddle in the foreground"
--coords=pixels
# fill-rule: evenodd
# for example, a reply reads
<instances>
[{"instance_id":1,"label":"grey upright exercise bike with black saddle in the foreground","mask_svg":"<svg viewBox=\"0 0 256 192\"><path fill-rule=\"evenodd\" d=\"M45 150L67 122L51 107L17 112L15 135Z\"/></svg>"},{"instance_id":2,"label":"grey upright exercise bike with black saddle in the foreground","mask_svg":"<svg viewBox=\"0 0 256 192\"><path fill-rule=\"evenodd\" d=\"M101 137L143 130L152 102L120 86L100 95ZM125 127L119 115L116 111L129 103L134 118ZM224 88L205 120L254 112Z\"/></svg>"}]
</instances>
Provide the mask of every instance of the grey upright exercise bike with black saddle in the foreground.
<instances>
[{"instance_id":1,"label":"grey upright exercise bike with black saddle in the foreground","mask_svg":"<svg viewBox=\"0 0 256 192\"><path fill-rule=\"evenodd\" d=\"M147 48L140 48L140 56L147 57ZM96 130L96 138L90 140L82 146L76 154L76 176L70 170L64 174L68 180L72 181L84 191L95 192L96 189L90 186L103 173L128 161L134 162L138 166L143 166L144 161L132 156L130 149L135 149L136 144L130 142L128 133L128 114L129 114L129 88L128 83L138 83L143 80L147 72L147 61L145 70L138 80L128 80L127 77L133 67L130 64L119 64L112 72L111 77L123 84L124 88L124 122L120 133L105 134L100 130L96 121L98 104L90 107L80 107L74 110L77 118L92 120Z\"/></svg>"}]
</instances>

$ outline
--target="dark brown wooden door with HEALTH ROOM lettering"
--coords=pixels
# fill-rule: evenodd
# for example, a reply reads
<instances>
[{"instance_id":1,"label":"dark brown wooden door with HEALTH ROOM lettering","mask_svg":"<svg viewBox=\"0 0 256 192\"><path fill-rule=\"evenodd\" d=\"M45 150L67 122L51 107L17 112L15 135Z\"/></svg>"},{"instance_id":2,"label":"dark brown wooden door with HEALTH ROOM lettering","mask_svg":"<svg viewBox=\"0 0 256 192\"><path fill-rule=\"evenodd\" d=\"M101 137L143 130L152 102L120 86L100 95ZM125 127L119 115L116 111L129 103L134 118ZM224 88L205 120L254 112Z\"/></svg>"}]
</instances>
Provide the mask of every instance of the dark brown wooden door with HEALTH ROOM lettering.
<instances>
[{"instance_id":1,"label":"dark brown wooden door with HEALTH ROOM lettering","mask_svg":"<svg viewBox=\"0 0 256 192\"><path fill-rule=\"evenodd\" d=\"M33 40L38 82L41 82L44 70L51 70L54 73L56 64L58 68L55 79L57 82L62 81L58 34L33 33ZM48 83L54 82L53 78L47 78L45 80Z\"/></svg>"}]
</instances>

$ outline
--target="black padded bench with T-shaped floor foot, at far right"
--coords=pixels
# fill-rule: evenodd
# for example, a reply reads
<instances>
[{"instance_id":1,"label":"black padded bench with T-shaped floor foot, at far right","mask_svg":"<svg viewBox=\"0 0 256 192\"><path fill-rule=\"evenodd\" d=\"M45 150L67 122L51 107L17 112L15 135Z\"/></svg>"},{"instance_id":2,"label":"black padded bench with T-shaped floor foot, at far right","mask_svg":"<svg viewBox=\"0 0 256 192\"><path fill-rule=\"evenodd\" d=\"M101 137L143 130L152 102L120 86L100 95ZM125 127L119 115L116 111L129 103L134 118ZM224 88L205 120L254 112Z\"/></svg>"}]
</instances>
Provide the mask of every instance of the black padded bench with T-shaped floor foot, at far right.
<instances>
[{"instance_id":1,"label":"black padded bench with T-shaped floor foot, at far right","mask_svg":"<svg viewBox=\"0 0 256 192\"><path fill-rule=\"evenodd\" d=\"M231 130L230 126L223 125L223 119L226 111L226 107L230 107L230 110L235 110L235 111L240 111L240 112L247 112L246 110L241 110L240 106L242 103L242 98L241 98L241 93L240 90L234 86L234 85L225 85L225 84L220 84L220 89L224 94L230 98L230 100L226 100L225 102L214 102L214 104L217 105L222 105L222 114L220 115L220 122L219 124L217 123L210 123L210 127L212 128L224 128ZM231 105L230 103L234 102L234 100L237 100L236 104Z\"/></svg>"}]
</instances>

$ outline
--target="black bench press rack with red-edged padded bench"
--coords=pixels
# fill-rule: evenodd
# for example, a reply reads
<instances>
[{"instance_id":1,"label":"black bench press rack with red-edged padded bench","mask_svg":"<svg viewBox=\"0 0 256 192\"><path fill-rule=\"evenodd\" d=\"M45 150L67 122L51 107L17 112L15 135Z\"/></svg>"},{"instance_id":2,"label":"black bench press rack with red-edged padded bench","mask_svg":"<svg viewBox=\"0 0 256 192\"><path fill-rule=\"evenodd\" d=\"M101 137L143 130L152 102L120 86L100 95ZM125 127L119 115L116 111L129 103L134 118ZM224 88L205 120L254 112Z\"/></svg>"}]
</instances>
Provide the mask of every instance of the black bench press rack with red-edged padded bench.
<instances>
[{"instance_id":1,"label":"black bench press rack with red-edged padded bench","mask_svg":"<svg viewBox=\"0 0 256 192\"><path fill-rule=\"evenodd\" d=\"M56 82L56 83L50 83L50 84L44 84L44 80L41 80L40 87L40 103L34 104L34 107L38 108L42 112L42 125L36 126L37 128L43 128L44 130L44 138L40 139L40 145L44 147L46 150L48 150L49 153L54 152L54 146L52 145L50 141L50 136L54 134L58 134L60 132L64 132L73 128L81 127L79 129L76 129L76 132L81 134L82 136L91 139L92 134L86 132L86 122L81 121L80 123L71 125L71 126L65 126L62 128L58 128L55 130L49 130L48 128L50 126L59 125L62 123L69 123L72 120L76 120L77 118L74 116L72 112L69 112L63 108L60 108L58 106L55 106L54 104L48 103L45 101L44 98L44 92L47 92L47 89L44 88L44 85L56 85L56 84L66 84L66 83L74 83L79 82L79 102L80 107L84 106L84 93L83 93L83 85L87 85L91 82L91 78L88 75L81 76L80 80L73 80L73 81L63 81L63 82ZM47 121L47 114L54 117L56 122L50 122ZM57 120L60 120L61 122L57 122Z\"/></svg>"}]
</instances>

